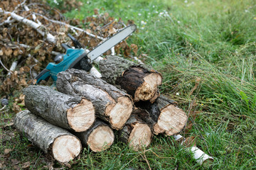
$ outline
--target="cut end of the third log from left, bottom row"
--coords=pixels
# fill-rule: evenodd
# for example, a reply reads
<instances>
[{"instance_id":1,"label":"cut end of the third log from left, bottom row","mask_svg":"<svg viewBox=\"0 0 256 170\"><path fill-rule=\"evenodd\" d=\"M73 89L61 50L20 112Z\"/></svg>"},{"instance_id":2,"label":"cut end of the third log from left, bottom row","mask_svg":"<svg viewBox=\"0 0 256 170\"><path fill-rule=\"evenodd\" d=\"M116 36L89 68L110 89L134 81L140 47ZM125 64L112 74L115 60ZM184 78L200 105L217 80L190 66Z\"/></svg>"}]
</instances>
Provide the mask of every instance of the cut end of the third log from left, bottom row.
<instances>
[{"instance_id":1,"label":"cut end of the third log from left, bottom row","mask_svg":"<svg viewBox=\"0 0 256 170\"><path fill-rule=\"evenodd\" d=\"M129 147L138 151L149 146L152 138L152 132L148 125L137 123L134 125L132 132L129 135Z\"/></svg>"}]
</instances>

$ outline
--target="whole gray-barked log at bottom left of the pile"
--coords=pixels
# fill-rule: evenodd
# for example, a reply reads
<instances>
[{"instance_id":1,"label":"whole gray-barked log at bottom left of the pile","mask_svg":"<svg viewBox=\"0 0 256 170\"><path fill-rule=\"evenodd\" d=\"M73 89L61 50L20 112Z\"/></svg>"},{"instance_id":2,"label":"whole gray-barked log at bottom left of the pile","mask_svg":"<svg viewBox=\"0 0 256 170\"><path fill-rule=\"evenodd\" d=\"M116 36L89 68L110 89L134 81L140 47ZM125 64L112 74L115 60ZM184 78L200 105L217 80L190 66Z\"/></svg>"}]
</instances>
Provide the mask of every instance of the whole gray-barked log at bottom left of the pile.
<instances>
[{"instance_id":1,"label":"whole gray-barked log at bottom left of the pile","mask_svg":"<svg viewBox=\"0 0 256 170\"><path fill-rule=\"evenodd\" d=\"M52 154L58 162L69 162L81 152L82 145L78 137L28 110L16 114L14 125L28 140L44 152Z\"/></svg>"}]
</instances>

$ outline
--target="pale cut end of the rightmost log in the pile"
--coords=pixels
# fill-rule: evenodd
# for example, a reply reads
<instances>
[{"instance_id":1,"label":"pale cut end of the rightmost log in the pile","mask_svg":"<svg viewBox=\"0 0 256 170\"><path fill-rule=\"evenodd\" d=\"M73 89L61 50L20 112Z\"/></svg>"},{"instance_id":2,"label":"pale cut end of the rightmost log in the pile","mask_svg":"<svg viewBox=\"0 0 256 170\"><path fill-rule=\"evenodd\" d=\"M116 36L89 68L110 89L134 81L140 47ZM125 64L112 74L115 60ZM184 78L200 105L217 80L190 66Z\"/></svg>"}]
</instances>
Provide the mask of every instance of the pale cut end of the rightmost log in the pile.
<instances>
[{"instance_id":1,"label":"pale cut end of the rightmost log in the pile","mask_svg":"<svg viewBox=\"0 0 256 170\"><path fill-rule=\"evenodd\" d=\"M174 105L166 106L161 110L159 119L154 125L154 133L165 133L166 135L175 135L183 130L188 117L181 108Z\"/></svg>"}]
</instances>

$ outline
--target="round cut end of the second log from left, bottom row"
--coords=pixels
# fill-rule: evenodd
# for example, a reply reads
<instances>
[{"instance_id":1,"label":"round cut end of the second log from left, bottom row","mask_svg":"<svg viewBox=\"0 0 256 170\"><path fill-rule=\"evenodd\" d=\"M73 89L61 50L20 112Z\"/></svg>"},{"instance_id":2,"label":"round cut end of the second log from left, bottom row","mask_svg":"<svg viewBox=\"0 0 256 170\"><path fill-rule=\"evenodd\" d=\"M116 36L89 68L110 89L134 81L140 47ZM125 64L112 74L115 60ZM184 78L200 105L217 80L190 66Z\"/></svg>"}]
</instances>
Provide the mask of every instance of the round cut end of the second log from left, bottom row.
<instances>
[{"instance_id":1,"label":"round cut end of the second log from left, bottom row","mask_svg":"<svg viewBox=\"0 0 256 170\"><path fill-rule=\"evenodd\" d=\"M93 152L101 152L109 148L113 142L113 130L106 125L101 125L92 131L88 137L87 145L89 145Z\"/></svg>"}]
</instances>

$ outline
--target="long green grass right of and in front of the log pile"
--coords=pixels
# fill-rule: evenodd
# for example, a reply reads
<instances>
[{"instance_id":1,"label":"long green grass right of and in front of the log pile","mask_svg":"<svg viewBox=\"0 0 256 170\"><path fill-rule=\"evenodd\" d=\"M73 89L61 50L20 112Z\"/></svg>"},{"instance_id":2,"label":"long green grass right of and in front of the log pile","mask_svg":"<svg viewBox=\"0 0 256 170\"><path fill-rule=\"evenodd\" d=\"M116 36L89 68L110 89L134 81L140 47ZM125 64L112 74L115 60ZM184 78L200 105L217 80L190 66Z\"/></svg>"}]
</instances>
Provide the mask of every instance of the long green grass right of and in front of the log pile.
<instances>
[{"instance_id":1,"label":"long green grass right of and in front of the log pile","mask_svg":"<svg viewBox=\"0 0 256 170\"><path fill-rule=\"evenodd\" d=\"M65 16L82 20L99 8L100 13L135 21L139 32L128 42L139 45L138 57L146 54L146 64L163 74L161 93L190 115L192 126L182 135L196 136L197 146L214 157L212 169L256 169L256 1L82 2ZM200 81L191 94L196 78ZM13 140L1 143L1 152L13 149L10 158L31 160L31 169L48 164L45 154L36 148L31 152L30 142L15 133ZM189 156L172 137L159 135L142 152L119 142L100 153L85 148L72 167L203 169Z\"/></svg>"}]
</instances>

